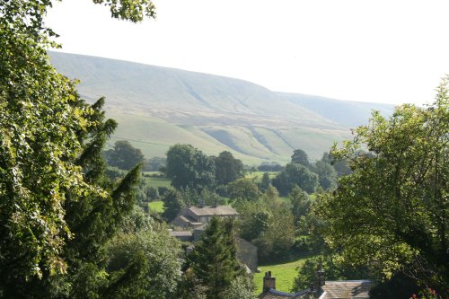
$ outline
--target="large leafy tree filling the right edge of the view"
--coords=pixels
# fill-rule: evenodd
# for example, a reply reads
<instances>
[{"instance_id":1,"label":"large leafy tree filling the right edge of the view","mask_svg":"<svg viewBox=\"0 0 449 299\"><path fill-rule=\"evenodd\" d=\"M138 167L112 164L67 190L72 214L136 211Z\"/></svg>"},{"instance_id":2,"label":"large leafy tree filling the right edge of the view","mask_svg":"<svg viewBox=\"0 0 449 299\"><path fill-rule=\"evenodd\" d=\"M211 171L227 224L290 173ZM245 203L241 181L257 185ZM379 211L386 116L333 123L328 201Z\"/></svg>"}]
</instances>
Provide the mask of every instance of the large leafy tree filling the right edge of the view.
<instances>
[{"instance_id":1,"label":"large leafy tree filling the right edge of the view","mask_svg":"<svg viewBox=\"0 0 449 299\"><path fill-rule=\"evenodd\" d=\"M447 287L448 101L446 78L426 109L403 105L390 119L374 112L354 140L334 146L354 172L313 210L330 222L323 233L345 259ZM362 146L370 155L355 154Z\"/></svg>"}]
</instances>

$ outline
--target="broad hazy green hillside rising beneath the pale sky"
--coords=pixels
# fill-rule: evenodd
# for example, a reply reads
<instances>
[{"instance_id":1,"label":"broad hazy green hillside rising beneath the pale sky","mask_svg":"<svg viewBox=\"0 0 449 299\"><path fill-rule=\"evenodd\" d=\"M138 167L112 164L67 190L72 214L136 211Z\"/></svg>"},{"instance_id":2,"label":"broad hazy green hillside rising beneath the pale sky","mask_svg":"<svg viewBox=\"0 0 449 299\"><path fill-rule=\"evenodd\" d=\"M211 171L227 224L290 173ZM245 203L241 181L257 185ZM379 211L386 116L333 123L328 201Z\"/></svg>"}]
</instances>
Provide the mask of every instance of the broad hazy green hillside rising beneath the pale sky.
<instances>
[{"instance_id":1,"label":"broad hazy green hillside rising beneath the pale sky","mask_svg":"<svg viewBox=\"0 0 449 299\"><path fill-rule=\"evenodd\" d=\"M316 159L376 107L161 66L49 55L61 73L81 80L78 90L86 100L106 97L109 116L119 121L114 138L130 140L147 158L189 143L207 154L228 150L252 164L286 163L296 148Z\"/></svg>"}]
</instances>

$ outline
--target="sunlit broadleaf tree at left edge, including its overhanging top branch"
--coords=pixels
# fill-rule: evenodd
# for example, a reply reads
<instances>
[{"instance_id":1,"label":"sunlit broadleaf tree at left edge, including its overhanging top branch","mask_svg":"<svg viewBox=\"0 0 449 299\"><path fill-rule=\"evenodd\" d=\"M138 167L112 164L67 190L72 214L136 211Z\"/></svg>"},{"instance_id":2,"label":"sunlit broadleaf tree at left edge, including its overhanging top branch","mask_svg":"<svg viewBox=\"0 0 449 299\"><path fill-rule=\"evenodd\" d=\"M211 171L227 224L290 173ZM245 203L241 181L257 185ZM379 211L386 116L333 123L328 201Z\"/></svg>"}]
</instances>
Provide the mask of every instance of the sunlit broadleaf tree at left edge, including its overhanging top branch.
<instances>
[{"instance_id":1,"label":"sunlit broadleaf tree at left edge, including its overhanging top branch","mask_svg":"<svg viewBox=\"0 0 449 299\"><path fill-rule=\"evenodd\" d=\"M114 16L130 21L139 21L144 14L154 16L148 0L105 3ZM107 196L91 182L100 180L101 174L90 167L88 158L92 156L88 151L96 153L95 143L101 138L87 142L83 134L98 128L91 121L94 108L80 100L75 83L57 73L48 59L47 49L56 46L50 41L56 34L42 22L50 6L48 0L0 4L0 296L4 297L46 296L33 292L51 287L50 280L57 281L70 269L64 256L75 227L67 219L67 198L75 202ZM122 195L115 198L121 200ZM53 286L58 292L66 285Z\"/></svg>"}]
</instances>

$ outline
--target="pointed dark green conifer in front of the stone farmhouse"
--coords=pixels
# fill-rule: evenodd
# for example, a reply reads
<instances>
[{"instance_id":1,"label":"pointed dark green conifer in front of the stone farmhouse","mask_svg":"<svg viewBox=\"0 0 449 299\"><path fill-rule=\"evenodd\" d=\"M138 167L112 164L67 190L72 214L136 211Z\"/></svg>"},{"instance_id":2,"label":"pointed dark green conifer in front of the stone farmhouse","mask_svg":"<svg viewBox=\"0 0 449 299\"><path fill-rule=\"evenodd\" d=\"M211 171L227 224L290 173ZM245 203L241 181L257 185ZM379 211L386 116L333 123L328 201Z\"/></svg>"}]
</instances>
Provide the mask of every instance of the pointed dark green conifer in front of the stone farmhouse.
<instances>
[{"instance_id":1,"label":"pointed dark green conifer in front of the stone farmhouse","mask_svg":"<svg viewBox=\"0 0 449 299\"><path fill-rule=\"evenodd\" d=\"M201 241L189 256L193 274L207 286L207 298L225 297L225 290L243 269L236 259L236 245L231 219L212 217Z\"/></svg>"}]
</instances>

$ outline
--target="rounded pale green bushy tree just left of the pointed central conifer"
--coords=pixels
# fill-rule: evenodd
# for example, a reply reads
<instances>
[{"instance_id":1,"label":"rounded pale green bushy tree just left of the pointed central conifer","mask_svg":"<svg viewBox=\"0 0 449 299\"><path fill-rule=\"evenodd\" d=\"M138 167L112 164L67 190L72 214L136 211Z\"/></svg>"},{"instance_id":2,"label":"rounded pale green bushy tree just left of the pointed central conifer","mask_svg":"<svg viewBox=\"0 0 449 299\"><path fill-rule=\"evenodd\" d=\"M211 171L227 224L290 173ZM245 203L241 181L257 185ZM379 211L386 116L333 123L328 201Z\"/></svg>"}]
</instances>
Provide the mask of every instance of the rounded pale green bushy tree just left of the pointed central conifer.
<instances>
[{"instance_id":1,"label":"rounded pale green bushy tree just left of the pointed central conifer","mask_svg":"<svg viewBox=\"0 0 449 299\"><path fill-rule=\"evenodd\" d=\"M164 298L180 280L180 244L165 228L119 234L105 249L110 285L103 298Z\"/></svg>"}]
</instances>

